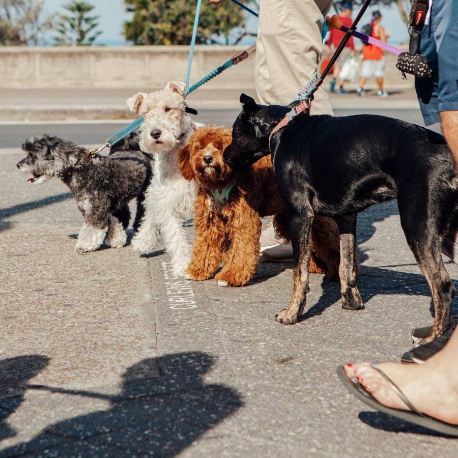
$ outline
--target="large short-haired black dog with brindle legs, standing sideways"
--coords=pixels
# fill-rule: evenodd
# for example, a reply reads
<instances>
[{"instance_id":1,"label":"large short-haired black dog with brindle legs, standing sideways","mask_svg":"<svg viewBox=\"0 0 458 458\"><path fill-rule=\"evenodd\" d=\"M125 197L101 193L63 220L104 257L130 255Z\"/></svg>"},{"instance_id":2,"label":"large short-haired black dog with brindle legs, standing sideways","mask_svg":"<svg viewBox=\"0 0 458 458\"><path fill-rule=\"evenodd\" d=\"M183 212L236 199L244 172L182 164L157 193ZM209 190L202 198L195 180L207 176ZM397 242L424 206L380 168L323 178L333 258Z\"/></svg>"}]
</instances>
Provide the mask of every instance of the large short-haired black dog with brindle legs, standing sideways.
<instances>
[{"instance_id":1,"label":"large short-haired black dog with brindle legs, standing sideways","mask_svg":"<svg viewBox=\"0 0 458 458\"><path fill-rule=\"evenodd\" d=\"M363 307L356 287L356 215L397 198L407 242L433 293L436 317L432 340L448 321L455 287L441 252L458 261L458 192L444 138L396 119L375 115L296 116L269 139L291 110L257 105L242 94L243 110L224 152L231 167L272 153L278 190L288 214L294 252L294 292L276 320L293 324L301 316L308 287L310 233L314 214L332 216L340 233L342 307Z\"/></svg>"}]
</instances>

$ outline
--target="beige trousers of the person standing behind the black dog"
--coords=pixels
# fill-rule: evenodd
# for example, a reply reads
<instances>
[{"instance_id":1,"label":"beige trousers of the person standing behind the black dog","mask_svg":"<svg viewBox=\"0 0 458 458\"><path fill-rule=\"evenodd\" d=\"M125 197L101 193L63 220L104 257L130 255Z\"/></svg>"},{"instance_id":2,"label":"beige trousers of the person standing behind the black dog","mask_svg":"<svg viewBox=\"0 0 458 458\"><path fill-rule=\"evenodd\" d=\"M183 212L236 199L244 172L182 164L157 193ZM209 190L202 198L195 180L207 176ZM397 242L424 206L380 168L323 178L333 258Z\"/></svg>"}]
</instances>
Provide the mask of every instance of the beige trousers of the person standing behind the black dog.
<instances>
[{"instance_id":1,"label":"beige trousers of the person standing behind the black dog","mask_svg":"<svg viewBox=\"0 0 458 458\"><path fill-rule=\"evenodd\" d=\"M323 20L332 0L261 0L256 43L256 92L260 103L288 105L317 72ZM323 89L311 115L332 115Z\"/></svg>"}]
</instances>

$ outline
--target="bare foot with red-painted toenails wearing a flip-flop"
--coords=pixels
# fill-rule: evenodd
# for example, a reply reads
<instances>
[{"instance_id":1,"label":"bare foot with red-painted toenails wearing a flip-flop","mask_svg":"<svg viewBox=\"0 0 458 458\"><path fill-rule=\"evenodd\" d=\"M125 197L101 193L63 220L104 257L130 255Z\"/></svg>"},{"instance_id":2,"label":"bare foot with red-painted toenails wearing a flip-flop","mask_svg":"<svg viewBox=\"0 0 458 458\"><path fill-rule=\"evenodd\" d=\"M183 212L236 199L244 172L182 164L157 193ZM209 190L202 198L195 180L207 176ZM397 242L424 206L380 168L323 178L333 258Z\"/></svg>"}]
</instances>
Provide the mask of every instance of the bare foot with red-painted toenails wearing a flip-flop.
<instances>
[{"instance_id":1,"label":"bare foot with red-painted toenails wearing a flip-flop","mask_svg":"<svg viewBox=\"0 0 458 458\"><path fill-rule=\"evenodd\" d=\"M458 332L448 344L424 364L377 363L422 413L458 424ZM345 365L349 377L356 377L381 404L409 410L386 380L368 362Z\"/></svg>"}]
</instances>

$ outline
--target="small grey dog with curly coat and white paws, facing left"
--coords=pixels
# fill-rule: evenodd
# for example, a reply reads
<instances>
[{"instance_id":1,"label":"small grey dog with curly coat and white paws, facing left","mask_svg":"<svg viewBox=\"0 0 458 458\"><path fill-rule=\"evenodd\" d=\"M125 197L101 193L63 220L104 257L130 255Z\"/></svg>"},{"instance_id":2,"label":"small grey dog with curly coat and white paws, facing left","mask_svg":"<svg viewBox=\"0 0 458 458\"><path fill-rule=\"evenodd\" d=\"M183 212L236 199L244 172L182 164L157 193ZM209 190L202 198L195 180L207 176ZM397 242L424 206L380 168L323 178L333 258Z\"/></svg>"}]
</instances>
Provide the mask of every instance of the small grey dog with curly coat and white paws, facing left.
<instances>
[{"instance_id":1,"label":"small grey dog with curly coat and white paws, facing left","mask_svg":"<svg viewBox=\"0 0 458 458\"><path fill-rule=\"evenodd\" d=\"M72 141L51 135L28 138L22 145L27 156L17 167L32 174L27 181L43 183L59 178L70 189L84 217L75 251L97 250L102 243L112 248L124 246L129 225L128 203L137 199L133 227L143 214L141 205L151 181L150 159L140 151L136 134L111 148L108 156L97 156L77 167L85 149Z\"/></svg>"}]
</instances>

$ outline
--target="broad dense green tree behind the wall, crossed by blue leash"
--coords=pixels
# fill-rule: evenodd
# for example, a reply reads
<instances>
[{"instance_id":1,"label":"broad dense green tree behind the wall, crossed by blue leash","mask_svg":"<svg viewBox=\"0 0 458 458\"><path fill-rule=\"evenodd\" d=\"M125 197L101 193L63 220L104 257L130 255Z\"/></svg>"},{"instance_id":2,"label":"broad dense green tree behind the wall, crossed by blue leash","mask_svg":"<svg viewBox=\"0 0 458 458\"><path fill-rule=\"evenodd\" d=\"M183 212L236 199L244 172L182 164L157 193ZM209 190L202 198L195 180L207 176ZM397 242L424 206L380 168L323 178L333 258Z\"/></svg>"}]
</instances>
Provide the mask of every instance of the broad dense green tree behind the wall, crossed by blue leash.
<instances>
[{"instance_id":1,"label":"broad dense green tree behind the wall, crossed by blue leash","mask_svg":"<svg viewBox=\"0 0 458 458\"><path fill-rule=\"evenodd\" d=\"M124 35L134 44L189 44L194 23L195 1L124 0L131 20L124 23ZM234 34L234 31L236 33ZM236 37L234 37L236 35ZM246 36L243 10L232 2L214 6L202 3L196 43L236 42ZM232 37L234 37L232 39Z\"/></svg>"}]
</instances>

